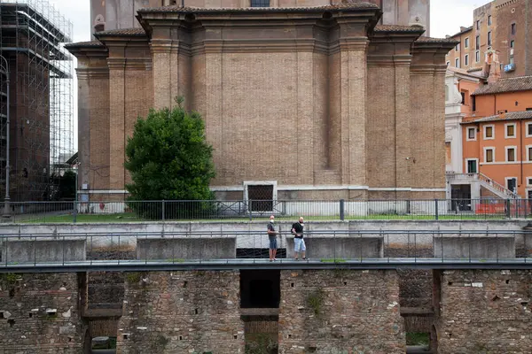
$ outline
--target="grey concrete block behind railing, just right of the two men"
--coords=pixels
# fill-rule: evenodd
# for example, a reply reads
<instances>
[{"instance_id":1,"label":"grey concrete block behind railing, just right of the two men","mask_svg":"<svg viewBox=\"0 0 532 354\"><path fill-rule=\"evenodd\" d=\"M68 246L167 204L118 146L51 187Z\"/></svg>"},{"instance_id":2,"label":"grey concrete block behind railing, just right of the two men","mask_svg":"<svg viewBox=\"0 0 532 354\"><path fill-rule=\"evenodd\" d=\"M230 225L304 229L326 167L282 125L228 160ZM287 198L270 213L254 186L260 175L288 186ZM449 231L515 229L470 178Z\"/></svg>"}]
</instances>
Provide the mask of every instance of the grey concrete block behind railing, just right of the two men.
<instances>
[{"instance_id":1,"label":"grey concrete block behind railing, just right of the two men","mask_svg":"<svg viewBox=\"0 0 532 354\"><path fill-rule=\"evenodd\" d=\"M307 258L383 258L384 237L305 237ZM286 253L293 257L293 237L286 237Z\"/></svg>"}]
</instances>

